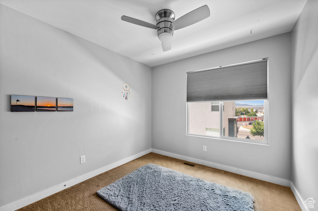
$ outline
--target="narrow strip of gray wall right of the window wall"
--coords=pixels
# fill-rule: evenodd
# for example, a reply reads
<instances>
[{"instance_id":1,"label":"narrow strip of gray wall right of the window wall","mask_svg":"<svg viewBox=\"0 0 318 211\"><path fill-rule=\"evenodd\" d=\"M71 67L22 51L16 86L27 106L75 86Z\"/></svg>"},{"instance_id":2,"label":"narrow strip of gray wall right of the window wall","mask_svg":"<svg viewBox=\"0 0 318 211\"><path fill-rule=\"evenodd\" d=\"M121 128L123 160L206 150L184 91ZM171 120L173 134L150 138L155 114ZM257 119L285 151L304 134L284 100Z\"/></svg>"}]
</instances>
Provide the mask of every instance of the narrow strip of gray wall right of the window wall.
<instances>
[{"instance_id":1,"label":"narrow strip of gray wall right of the window wall","mask_svg":"<svg viewBox=\"0 0 318 211\"><path fill-rule=\"evenodd\" d=\"M318 207L318 1L308 0L292 30L292 182ZM317 208L315 210L318 210Z\"/></svg>"}]
</instances>

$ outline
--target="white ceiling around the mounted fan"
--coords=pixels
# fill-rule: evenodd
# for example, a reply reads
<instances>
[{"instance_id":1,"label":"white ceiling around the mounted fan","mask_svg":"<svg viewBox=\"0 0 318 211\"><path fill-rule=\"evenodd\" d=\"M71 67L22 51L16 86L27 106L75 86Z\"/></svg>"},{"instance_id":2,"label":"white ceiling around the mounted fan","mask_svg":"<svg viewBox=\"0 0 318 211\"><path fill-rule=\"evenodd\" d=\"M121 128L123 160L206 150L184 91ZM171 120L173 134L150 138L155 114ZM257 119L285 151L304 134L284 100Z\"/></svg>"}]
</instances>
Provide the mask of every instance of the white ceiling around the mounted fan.
<instances>
[{"instance_id":1,"label":"white ceiling around the mounted fan","mask_svg":"<svg viewBox=\"0 0 318 211\"><path fill-rule=\"evenodd\" d=\"M0 3L150 67L289 32L307 0L0 0ZM211 16L176 30L163 52L155 24L161 9L176 19L207 4ZM252 33L251 33L252 30Z\"/></svg>"}]
</instances>

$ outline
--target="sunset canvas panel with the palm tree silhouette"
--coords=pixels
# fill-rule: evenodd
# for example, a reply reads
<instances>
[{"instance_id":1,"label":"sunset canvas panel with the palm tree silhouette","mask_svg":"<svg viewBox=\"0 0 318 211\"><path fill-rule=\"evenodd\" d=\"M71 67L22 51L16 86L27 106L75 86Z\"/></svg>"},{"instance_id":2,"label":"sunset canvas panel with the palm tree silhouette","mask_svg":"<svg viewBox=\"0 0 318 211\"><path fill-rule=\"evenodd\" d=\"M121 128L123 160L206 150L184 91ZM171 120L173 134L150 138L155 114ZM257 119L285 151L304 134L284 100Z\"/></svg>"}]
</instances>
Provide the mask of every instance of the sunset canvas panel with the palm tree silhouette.
<instances>
[{"instance_id":1,"label":"sunset canvas panel with the palm tree silhouette","mask_svg":"<svg viewBox=\"0 0 318 211\"><path fill-rule=\"evenodd\" d=\"M11 112L30 111L35 111L35 96L11 95Z\"/></svg>"}]
</instances>

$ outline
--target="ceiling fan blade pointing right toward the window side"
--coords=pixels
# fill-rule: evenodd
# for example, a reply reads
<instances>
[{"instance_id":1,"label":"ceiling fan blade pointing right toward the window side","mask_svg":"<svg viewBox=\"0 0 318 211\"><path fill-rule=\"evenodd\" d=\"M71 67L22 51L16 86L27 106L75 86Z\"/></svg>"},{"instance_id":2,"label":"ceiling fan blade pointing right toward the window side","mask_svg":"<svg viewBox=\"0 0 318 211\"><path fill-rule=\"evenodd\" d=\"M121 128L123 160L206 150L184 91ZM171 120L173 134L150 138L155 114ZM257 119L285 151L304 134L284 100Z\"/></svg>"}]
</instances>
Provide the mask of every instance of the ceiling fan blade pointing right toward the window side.
<instances>
[{"instance_id":1,"label":"ceiling fan blade pointing right toward the window side","mask_svg":"<svg viewBox=\"0 0 318 211\"><path fill-rule=\"evenodd\" d=\"M191 12L179 17L171 23L174 30L182 29L186 26L190 26L194 23L204 20L210 16L210 9L207 5L199 7Z\"/></svg>"}]
</instances>

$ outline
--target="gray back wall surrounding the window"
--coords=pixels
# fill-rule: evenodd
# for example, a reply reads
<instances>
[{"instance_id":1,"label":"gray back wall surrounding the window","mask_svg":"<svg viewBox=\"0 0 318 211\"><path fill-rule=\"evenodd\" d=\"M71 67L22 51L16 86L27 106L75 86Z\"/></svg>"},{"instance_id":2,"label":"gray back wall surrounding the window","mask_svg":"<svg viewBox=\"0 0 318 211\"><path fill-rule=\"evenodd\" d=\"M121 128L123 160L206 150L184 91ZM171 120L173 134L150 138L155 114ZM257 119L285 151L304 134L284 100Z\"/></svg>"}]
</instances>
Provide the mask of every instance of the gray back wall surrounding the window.
<instances>
[{"instance_id":1,"label":"gray back wall surrounding the window","mask_svg":"<svg viewBox=\"0 0 318 211\"><path fill-rule=\"evenodd\" d=\"M153 67L152 148L290 180L290 42L290 33L285 33ZM269 57L269 146L187 136L186 72L265 57ZM280 123L275 120L278 116Z\"/></svg>"}]
</instances>

